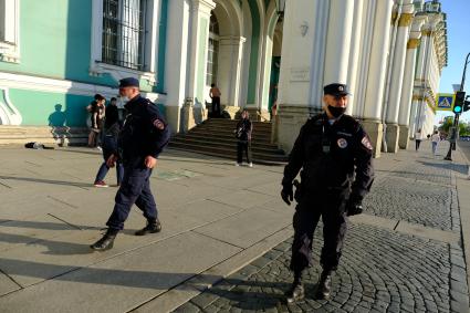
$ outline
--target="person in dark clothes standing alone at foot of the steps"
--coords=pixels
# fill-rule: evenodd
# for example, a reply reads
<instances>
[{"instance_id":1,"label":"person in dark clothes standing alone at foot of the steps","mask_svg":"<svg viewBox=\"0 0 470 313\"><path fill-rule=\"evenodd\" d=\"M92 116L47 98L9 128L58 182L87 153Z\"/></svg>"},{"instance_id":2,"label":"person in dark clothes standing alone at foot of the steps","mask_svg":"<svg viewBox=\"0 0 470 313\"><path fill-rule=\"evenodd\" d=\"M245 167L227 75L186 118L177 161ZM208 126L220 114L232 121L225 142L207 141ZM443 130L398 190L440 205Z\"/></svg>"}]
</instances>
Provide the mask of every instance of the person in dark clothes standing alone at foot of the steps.
<instances>
[{"instance_id":1,"label":"person in dark clothes standing alone at foot of the steps","mask_svg":"<svg viewBox=\"0 0 470 313\"><path fill-rule=\"evenodd\" d=\"M253 133L253 123L250 121L250 114L247 109L241 112L241 118L237 123L234 131L237 142L237 166L243 164L243 154L247 156L249 167L253 167L251 159L251 134Z\"/></svg>"}]
</instances>

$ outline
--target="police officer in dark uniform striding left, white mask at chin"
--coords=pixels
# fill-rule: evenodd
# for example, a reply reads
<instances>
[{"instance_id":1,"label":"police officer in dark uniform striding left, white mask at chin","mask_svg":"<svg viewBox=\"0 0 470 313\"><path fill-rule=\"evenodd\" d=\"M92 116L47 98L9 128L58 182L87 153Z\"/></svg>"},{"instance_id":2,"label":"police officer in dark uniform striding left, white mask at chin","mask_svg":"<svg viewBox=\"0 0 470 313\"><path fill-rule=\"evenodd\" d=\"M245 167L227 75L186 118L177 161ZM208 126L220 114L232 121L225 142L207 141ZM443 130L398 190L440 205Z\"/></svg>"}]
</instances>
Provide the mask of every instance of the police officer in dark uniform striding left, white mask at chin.
<instances>
[{"instance_id":1,"label":"police officer in dark uniform striding left, white mask at chin","mask_svg":"<svg viewBox=\"0 0 470 313\"><path fill-rule=\"evenodd\" d=\"M91 246L97 251L113 248L114 239L123 230L124 221L134 204L147 219L147 226L136 231L136 236L161 230L149 179L158 155L168 144L169 126L157 106L140 96L138 80L121 80L119 94L129 100L125 105L127 115L119 133L118 150L107 159L107 165L113 167L121 159L124 177L116 194L113 213L106 222L108 229L102 239Z\"/></svg>"}]
</instances>

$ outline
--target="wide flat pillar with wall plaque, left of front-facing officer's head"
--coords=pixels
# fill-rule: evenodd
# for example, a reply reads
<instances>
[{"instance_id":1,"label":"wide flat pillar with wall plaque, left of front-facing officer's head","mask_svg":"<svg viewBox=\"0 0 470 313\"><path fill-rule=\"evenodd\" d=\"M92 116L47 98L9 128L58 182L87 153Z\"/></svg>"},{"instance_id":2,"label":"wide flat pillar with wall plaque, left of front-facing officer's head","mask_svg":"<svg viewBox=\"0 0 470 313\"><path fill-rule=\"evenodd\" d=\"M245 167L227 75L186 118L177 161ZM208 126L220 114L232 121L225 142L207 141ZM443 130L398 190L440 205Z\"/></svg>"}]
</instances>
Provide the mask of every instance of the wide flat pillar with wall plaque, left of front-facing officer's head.
<instances>
[{"instance_id":1,"label":"wide flat pillar with wall plaque, left of front-facing officer's head","mask_svg":"<svg viewBox=\"0 0 470 313\"><path fill-rule=\"evenodd\" d=\"M328 8L328 1L285 2L274 133L286 153L309 116L321 109Z\"/></svg>"}]
</instances>

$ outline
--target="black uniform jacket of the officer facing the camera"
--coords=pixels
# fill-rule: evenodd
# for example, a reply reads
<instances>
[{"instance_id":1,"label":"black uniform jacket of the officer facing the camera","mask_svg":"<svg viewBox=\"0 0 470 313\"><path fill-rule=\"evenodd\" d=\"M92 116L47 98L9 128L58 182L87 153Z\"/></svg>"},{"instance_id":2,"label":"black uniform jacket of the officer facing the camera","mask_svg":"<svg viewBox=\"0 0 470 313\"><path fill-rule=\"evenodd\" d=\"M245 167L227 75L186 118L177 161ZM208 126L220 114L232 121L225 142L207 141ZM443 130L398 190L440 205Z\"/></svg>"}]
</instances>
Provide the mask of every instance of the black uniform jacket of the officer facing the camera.
<instances>
[{"instance_id":1,"label":"black uniform jacket of the officer facing the camera","mask_svg":"<svg viewBox=\"0 0 470 313\"><path fill-rule=\"evenodd\" d=\"M373 146L362 125L342 115L331 125L326 114L302 126L284 168L282 184L292 184L301 173L302 192L325 189L352 192L362 199L374 180Z\"/></svg>"}]
</instances>

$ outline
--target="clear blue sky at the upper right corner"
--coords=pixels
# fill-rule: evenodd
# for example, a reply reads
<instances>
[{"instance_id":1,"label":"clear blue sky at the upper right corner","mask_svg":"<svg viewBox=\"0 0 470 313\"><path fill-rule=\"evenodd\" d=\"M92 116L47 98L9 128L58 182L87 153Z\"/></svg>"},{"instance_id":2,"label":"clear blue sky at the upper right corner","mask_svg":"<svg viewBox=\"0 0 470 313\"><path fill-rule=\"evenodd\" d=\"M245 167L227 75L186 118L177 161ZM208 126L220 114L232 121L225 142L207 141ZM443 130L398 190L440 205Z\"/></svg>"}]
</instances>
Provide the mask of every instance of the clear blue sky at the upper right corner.
<instances>
[{"instance_id":1,"label":"clear blue sky at the upper right corner","mask_svg":"<svg viewBox=\"0 0 470 313\"><path fill-rule=\"evenodd\" d=\"M452 93L452 84L460 84L463 63L470 52L470 0L440 0L442 12L447 13L448 65L442 70L440 93ZM469 58L470 60L470 58ZM467 66L464 91L470 94L470 64ZM453 115L439 112L437 116ZM439 119L437 118L437 121ZM461 121L470 121L470 111L462 114Z\"/></svg>"}]
</instances>

